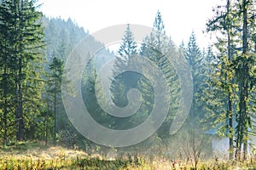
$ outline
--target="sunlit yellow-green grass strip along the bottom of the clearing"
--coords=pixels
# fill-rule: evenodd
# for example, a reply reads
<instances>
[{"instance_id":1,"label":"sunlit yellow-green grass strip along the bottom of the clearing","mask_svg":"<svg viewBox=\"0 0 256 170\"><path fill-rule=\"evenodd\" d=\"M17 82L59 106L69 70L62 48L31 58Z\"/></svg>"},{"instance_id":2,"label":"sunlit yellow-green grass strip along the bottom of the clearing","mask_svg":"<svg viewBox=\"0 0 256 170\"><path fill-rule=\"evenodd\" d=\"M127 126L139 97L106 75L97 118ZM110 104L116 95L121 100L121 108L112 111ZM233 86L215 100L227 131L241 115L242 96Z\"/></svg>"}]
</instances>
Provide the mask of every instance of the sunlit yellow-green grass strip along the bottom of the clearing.
<instances>
[{"instance_id":1,"label":"sunlit yellow-green grass strip along the bottom of the clearing","mask_svg":"<svg viewBox=\"0 0 256 170\"><path fill-rule=\"evenodd\" d=\"M195 169L185 161L166 160L154 156L131 156L107 159L99 155L89 156L81 150L61 147L45 147L38 142L13 144L0 149L0 169L99 169L99 170L166 170ZM149 161L150 160L150 161ZM256 159L237 161L200 161L196 169L256 169Z\"/></svg>"}]
</instances>

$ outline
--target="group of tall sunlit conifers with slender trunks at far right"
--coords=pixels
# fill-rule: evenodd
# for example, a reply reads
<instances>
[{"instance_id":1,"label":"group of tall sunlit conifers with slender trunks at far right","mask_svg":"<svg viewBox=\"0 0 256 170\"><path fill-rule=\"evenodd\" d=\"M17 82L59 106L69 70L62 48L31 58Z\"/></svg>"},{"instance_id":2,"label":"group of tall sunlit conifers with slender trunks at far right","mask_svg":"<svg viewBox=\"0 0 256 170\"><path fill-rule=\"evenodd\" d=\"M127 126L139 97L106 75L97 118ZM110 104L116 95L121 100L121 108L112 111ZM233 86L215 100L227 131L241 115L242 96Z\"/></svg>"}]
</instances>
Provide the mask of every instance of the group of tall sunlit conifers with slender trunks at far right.
<instances>
[{"instance_id":1,"label":"group of tall sunlit conifers with slender trunks at far right","mask_svg":"<svg viewBox=\"0 0 256 170\"><path fill-rule=\"evenodd\" d=\"M213 8L215 14L207 22L207 31L218 35L218 54L209 62L215 69L208 85L216 88L215 99L210 99L223 106L220 115L211 109L211 116L223 122L219 130L230 139L230 159L246 159L255 134L255 3L227 0Z\"/></svg>"}]
</instances>

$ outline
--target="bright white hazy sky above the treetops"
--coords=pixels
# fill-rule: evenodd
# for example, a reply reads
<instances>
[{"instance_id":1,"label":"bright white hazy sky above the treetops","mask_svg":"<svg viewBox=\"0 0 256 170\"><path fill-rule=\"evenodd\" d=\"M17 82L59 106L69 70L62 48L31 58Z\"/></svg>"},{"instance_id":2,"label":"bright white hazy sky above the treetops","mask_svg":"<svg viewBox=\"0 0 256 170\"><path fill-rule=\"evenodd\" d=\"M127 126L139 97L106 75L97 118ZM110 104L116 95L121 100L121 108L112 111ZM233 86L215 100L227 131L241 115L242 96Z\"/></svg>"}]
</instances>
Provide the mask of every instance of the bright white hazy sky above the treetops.
<instances>
[{"instance_id":1,"label":"bright white hazy sky above the treetops","mask_svg":"<svg viewBox=\"0 0 256 170\"><path fill-rule=\"evenodd\" d=\"M153 26L160 10L166 33L177 46L187 43L194 30L201 48L207 47L209 35L203 34L212 7L220 0L39 0L41 11L48 17L75 20L85 31L93 33L117 24Z\"/></svg>"}]
</instances>

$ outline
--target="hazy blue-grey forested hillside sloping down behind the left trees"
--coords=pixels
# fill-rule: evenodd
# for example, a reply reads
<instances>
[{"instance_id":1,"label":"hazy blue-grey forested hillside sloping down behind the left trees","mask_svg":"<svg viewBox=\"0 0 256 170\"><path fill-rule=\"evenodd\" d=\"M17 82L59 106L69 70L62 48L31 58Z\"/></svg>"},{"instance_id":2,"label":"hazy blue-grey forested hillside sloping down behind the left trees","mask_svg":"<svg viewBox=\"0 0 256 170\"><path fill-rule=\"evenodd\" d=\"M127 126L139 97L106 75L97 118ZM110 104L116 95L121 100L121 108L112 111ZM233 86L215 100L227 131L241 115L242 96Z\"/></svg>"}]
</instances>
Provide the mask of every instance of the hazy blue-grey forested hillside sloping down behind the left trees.
<instances>
[{"instance_id":1,"label":"hazy blue-grey forested hillside sloping down behind the left trees","mask_svg":"<svg viewBox=\"0 0 256 170\"><path fill-rule=\"evenodd\" d=\"M73 20L63 20L61 18L43 18L46 56L50 60L53 54L65 60L72 49L84 37L89 36L89 31L84 31L83 27L78 26ZM95 42L100 43L100 42ZM109 59L113 58L113 53L103 48L96 55L96 67L101 67Z\"/></svg>"}]
</instances>

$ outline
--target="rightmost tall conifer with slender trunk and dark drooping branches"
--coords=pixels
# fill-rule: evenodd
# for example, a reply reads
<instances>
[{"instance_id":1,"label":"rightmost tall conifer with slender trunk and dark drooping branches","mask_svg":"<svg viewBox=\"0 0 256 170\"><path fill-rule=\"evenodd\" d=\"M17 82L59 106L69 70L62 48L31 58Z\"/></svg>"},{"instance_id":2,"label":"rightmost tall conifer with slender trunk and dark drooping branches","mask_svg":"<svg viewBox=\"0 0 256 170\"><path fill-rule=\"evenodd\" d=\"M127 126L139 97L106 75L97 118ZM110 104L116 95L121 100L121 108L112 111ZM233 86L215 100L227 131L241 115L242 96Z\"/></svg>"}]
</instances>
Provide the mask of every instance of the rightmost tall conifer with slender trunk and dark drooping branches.
<instances>
[{"instance_id":1,"label":"rightmost tall conifer with slender trunk and dark drooping branches","mask_svg":"<svg viewBox=\"0 0 256 170\"><path fill-rule=\"evenodd\" d=\"M241 0L236 4L237 14L241 17L241 51L235 59L236 77L239 83L239 111L236 116L236 157L241 156L241 144L243 144L243 159L247 159L248 128L252 127L251 115L249 115L249 97L253 89L253 75L250 72L255 66L255 52L252 51L253 37L255 35L255 15L253 0Z\"/></svg>"}]
</instances>

